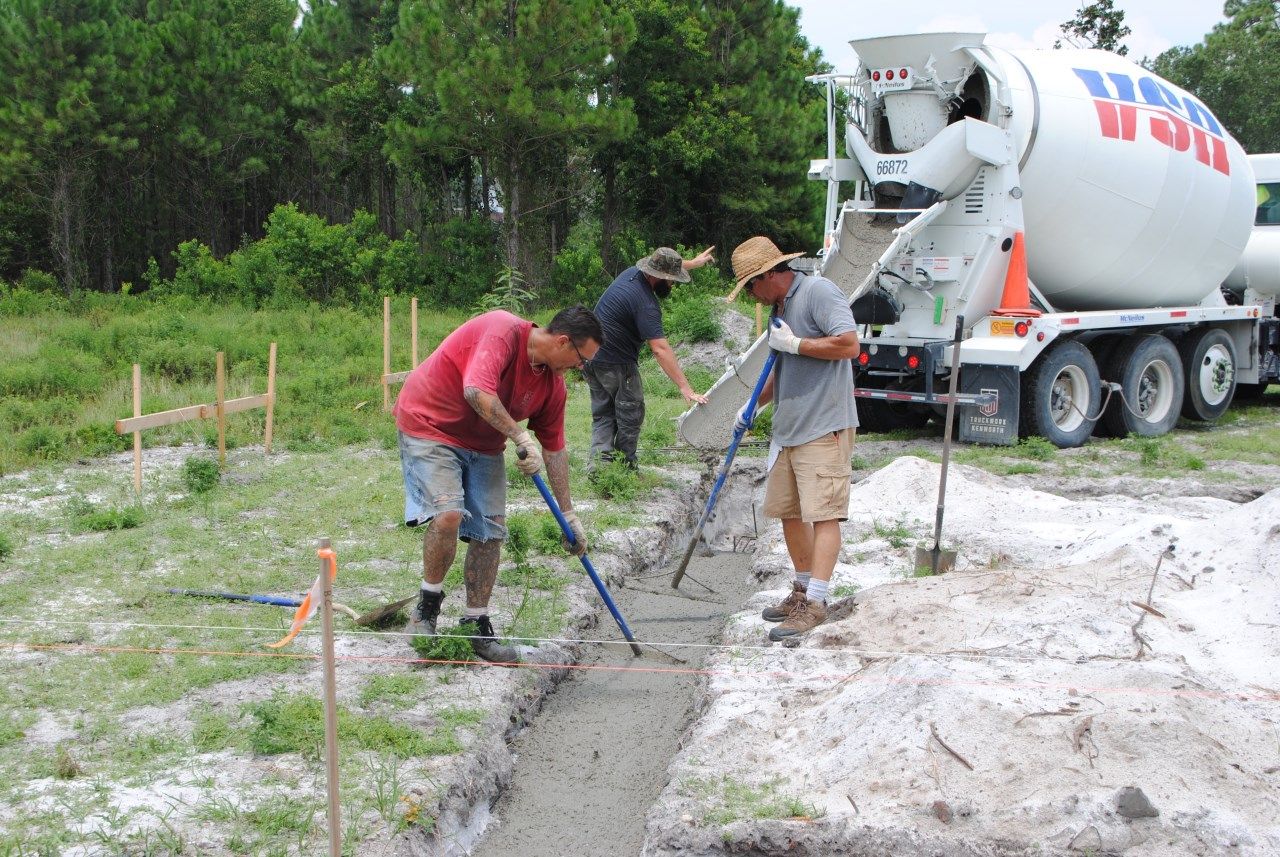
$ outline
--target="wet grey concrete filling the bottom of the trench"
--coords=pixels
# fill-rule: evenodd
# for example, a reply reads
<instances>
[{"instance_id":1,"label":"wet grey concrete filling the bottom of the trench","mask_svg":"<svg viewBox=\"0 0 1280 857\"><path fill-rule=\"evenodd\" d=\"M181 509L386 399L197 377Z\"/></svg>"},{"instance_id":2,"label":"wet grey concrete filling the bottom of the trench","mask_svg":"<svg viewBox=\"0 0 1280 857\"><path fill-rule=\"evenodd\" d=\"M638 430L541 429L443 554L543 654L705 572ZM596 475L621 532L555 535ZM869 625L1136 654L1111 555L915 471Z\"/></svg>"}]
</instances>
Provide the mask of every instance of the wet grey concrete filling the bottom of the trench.
<instances>
[{"instance_id":1,"label":"wet grey concrete filling the bottom of the trench","mask_svg":"<svg viewBox=\"0 0 1280 857\"><path fill-rule=\"evenodd\" d=\"M750 555L695 556L682 592L718 604L635 588L614 600L641 642L714 643L728 614L755 592ZM678 562L678 560L677 560ZM669 587L669 573L632 581L650 590ZM621 640L603 611L585 640ZM645 650L588 643L582 669L547 700L535 721L513 743L516 769L509 789L493 810L477 857L613 857L639 854L645 814L667 779L667 766L698 704L698 674L708 649L669 649L685 664Z\"/></svg>"}]
</instances>

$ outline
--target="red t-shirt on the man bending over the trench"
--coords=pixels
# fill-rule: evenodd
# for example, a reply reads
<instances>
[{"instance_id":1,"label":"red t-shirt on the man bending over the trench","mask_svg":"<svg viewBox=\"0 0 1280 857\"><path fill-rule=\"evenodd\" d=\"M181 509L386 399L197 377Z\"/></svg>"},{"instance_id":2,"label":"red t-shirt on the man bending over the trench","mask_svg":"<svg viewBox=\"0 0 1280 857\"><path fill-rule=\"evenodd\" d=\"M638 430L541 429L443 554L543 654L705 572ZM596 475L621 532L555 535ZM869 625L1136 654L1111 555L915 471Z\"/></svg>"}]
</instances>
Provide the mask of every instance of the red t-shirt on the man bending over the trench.
<instances>
[{"instance_id":1,"label":"red t-shirt on the man bending over the trench","mask_svg":"<svg viewBox=\"0 0 1280 857\"><path fill-rule=\"evenodd\" d=\"M529 420L543 449L564 449L564 379L529 361L532 321L495 310L444 338L404 379L396 399L396 427L477 453L502 453L507 437L462 397L474 386L498 397L516 422Z\"/></svg>"}]
</instances>

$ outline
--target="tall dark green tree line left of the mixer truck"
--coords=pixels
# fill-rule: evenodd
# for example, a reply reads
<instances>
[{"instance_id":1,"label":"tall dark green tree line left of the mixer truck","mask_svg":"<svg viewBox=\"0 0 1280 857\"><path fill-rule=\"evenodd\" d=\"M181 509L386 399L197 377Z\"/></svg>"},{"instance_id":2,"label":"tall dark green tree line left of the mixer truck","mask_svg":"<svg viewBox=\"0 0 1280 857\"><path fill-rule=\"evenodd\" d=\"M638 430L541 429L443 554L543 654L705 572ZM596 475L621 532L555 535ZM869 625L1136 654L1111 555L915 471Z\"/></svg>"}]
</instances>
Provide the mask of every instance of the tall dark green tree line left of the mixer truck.
<instances>
[{"instance_id":1,"label":"tall dark green tree line left of the mixer truck","mask_svg":"<svg viewBox=\"0 0 1280 857\"><path fill-rule=\"evenodd\" d=\"M820 69L781 0L3 0L0 279L115 290L279 203L530 284L810 246Z\"/></svg>"}]
</instances>

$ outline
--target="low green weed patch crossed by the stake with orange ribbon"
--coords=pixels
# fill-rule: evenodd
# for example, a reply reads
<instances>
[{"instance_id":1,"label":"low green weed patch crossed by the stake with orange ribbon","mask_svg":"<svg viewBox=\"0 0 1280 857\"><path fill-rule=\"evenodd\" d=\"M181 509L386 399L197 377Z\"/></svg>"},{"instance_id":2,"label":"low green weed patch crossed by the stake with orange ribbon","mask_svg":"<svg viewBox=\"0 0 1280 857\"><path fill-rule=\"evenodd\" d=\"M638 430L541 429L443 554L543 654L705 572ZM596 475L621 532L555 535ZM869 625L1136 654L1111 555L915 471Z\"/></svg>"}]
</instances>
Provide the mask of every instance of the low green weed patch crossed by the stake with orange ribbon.
<instances>
[{"instance_id":1,"label":"low green weed patch crossed by the stake with orange ribbon","mask_svg":"<svg viewBox=\"0 0 1280 857\"><path fill-rule=\"evenodd\" d=\"M256 720L250 730L250 748L255 753L275 756L296 752L319 759L324 750L324 706L320 700L278 692L270 700L250 704L246 709ZM338 709L338 738L362 750L392 752L402 759L439 752L411 727L342 707Z\"/></svg>"}]
</instances>

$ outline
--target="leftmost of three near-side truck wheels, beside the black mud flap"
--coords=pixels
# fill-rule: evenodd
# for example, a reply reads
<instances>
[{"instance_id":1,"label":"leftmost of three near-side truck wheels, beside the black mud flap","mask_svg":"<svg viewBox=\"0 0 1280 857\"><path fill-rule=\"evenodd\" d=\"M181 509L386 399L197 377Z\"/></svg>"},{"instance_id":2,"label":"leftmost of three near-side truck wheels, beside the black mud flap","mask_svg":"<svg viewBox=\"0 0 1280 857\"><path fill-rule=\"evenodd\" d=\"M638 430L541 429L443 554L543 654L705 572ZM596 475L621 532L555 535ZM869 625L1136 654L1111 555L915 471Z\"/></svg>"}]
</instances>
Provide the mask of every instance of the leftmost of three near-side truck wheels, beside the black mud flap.
<instances>
[{"instance_id":1,"label":"leftmost of three near-side truck wheels, beside the black mud flap","mask_svg":"<svg viewBox=\"0 0 1280 857\"><path fill-rule=\"evenodd\" d=\"M1080 446L1098 421L1101 381L1089 349L1064 340L1028 367L1021 381L1021 434L1039 435L1059 449Z\"/></svg>"}]
</instances>

